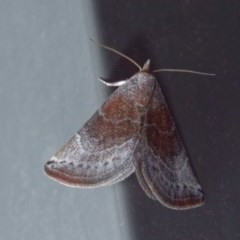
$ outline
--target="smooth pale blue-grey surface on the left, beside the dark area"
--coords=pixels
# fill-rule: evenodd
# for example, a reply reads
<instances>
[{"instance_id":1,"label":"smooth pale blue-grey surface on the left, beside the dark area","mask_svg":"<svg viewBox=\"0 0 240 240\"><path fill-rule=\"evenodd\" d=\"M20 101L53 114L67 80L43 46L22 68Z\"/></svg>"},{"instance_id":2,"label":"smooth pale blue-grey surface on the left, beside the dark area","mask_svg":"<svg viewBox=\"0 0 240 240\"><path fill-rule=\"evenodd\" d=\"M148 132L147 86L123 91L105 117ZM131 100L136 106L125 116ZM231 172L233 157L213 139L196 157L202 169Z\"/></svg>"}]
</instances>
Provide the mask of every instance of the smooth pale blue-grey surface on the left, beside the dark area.
<instances>
[{"instance_id":1,"label":"smooth pale blue-grey surface on the left, beside the dark area","mask_svg":"<svg viewBox=\"0 0 240 240\"><path fill-rule=\"evenodd\" d=\"M1 240L120 239L126 226L121 189L43 174L103 100L89 45L82 2L0 1Z\"/></svg>"}]
</instances>

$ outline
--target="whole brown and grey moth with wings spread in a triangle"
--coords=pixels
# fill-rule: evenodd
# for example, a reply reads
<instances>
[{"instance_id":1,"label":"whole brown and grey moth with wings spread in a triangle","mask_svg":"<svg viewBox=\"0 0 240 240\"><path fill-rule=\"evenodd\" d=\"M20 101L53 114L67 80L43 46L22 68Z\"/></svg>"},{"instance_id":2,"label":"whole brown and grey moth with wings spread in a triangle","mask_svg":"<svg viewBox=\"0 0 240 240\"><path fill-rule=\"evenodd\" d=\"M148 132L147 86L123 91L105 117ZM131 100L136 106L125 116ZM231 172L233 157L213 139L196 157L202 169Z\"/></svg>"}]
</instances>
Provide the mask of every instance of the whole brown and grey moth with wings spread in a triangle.
<instances>
[{"instance_id":1,"label":"whole brown and grey moth with wings spread in a triangle","mask_svg":"<svg viewBox=\"0 0 240 240\"><path fill-rule=\"evenodd\" d=\"M117 90L44 171L62 184L80 188L109 186L135 172L146 195L164 206L178 210L201 206L202 187L150 61L142 68L136 65L139 71L129 79L102 80Z\"/></svg>"}]
</instances>

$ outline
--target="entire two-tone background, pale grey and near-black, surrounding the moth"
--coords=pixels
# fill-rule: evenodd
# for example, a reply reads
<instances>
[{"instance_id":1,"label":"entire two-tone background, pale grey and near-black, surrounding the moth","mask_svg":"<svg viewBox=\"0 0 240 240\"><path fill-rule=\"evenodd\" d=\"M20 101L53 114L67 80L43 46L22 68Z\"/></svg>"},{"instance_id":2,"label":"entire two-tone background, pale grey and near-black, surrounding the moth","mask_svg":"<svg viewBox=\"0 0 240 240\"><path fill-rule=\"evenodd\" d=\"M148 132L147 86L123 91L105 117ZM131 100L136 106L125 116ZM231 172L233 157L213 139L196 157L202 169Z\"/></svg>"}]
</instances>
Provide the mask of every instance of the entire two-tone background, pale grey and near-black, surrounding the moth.
<instances>
[{"instance_id":1,"label":"entire two-tone background, pale grey and near-black, surrounding the moth","mask_svg":"<svg viewBox=\"0 0 240 240\"><path fill-rule=\"evenodd\" d=\"M0 1L0 239L239 239L240 34L238 1ZM140 64L216 73L161 74L205 206L172 211L135 177L67 188L43 164L106 99L97 77ZM105 54L105 52L104 52Z\"/></svg>"}]
</instances>

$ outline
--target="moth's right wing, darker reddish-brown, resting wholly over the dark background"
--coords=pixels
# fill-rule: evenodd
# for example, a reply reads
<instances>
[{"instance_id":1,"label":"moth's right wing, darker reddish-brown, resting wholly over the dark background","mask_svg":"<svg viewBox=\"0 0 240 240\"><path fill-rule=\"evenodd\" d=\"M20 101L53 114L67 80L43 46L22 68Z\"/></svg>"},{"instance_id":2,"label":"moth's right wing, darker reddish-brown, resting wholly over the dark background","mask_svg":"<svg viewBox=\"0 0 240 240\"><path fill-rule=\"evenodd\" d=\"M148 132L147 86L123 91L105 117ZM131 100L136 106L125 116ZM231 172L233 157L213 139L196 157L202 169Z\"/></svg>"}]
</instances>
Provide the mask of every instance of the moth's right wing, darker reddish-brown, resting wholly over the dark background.
<instances>
[{"instance_id":1,"label":"moth's right wing, darker reddish-brown, resting wholly over the dark background","mask_svg":"<svg viewBox=\"0 0 240 240\"><path fill-rule=\"evenodd\" d=\"M143 190L163 205L188 209L204 203L201 186L157 83L134 153L134 164Z\"/></svg>"}]
</instances>

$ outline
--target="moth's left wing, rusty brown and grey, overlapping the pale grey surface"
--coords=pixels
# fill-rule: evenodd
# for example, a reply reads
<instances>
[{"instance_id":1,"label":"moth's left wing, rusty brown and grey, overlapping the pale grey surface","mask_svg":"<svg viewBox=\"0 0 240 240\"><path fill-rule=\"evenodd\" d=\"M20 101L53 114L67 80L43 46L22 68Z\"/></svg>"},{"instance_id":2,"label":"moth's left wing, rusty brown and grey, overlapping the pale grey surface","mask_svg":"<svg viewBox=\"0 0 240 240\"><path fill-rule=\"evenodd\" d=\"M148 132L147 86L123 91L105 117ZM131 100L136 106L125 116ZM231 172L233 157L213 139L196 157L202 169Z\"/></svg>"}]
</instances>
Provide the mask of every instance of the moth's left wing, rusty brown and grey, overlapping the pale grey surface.
<instances>
[{"instance_id":1,"label":"moth's left wing, rusty brown and grey, overlapping the pale grey surface","mask_svg":"<svg viewBox=\"0 0 240 240\"><path fill-rule=\"evenodd\" d=\"M128 79L45 164L46 174L77 187L110 185L132 174L141 116L149 102L145 90L138 75Z\"/></svg>"}]
</instances>

